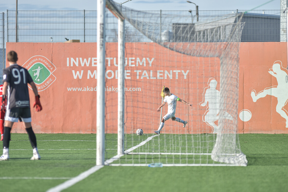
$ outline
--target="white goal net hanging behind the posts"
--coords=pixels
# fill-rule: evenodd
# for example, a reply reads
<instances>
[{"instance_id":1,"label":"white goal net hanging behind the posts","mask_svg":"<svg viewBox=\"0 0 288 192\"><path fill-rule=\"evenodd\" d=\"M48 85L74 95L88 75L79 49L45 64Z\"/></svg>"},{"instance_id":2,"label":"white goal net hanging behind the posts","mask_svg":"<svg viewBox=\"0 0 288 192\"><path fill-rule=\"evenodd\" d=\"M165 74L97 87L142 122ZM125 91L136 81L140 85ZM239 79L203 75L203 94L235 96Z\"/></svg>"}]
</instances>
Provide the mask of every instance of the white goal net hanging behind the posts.
<instances>
[{"instance_id":1,"label":"white goal net hanging behind the posts","mask_svg":"<svg viewBox=\"0 0 288 192\"><path fill-rule=\"evenodd\" d=\"M120 5L112 4L126 20L125 134L124 154L113 159L112 149L106 148L106 164L247 165L237 129L241 14L203 13L196 21L188 11L183 16L122 6L120 12ZM149 40L129 42L139 32ZM175 96L163 98L163 87ZM116 105L113 99L106 103ZM168 118L172 100L176 112ZM110 134L109 121L115 117L108 111L105 118Z\"/></svg>"}]
</instances>

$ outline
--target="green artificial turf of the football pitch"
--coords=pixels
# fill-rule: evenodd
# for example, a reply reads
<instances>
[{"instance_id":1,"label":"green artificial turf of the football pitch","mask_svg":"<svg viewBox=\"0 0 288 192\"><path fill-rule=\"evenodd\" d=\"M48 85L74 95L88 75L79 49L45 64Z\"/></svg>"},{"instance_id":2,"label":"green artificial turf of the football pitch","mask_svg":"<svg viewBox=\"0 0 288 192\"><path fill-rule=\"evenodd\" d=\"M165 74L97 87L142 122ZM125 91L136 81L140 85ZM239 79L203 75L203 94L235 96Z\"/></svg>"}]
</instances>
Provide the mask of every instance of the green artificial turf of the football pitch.
<instances>
[{"instance_id":1,"label":"green artificial turf of the football pitch","mask_svg":"<svg viewBox=\"0 0 288 192\"><path fill-rule=\"evenodd\" d=\"M28 135L12 134L11 159L0 161L0 191L47 191L96 164L95 134L36 134L36 137L41 160L31 161ZM181 135L173 137L182 141ZM285 134L239 135L247 167L104 166L64 191L287 191L287 137ZM139 138L137 141L136 136L131 136L126 148L144 140L145 135ZM105 158L109 159L117 155L117 135L106 134L105 139L106 148L110 149ZM168 136L166 144L167 139ZM175 145L162 146L162 140L158 140L154 144L160 142L160 151L178 150ZM122 159L121 163L125 156Z\"/></svg>"}]
</instances>

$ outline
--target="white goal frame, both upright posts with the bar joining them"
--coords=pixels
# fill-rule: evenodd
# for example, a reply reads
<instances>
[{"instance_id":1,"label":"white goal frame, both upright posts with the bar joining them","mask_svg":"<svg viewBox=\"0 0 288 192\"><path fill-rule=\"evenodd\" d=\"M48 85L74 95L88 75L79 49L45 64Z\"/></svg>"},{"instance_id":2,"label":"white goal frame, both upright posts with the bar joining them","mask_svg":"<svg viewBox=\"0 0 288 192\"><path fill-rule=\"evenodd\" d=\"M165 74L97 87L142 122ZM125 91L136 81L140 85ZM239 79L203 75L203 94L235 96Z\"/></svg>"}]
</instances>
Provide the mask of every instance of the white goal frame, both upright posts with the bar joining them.
<instances>
[{"instance_id":1,"label":"white goal frame, both upright posts with the bar joining them","mask_svg":"<svg viewBox=\"0 0 288 192\"><path fill-rule=\"evenodd\" d=\"M124 49L125 22L124 17L110 1L97 1L97 150L96 165L104 165L105 157L105 7L118 18L118 155L124 154Z\"/></svg>"}]
</instances>

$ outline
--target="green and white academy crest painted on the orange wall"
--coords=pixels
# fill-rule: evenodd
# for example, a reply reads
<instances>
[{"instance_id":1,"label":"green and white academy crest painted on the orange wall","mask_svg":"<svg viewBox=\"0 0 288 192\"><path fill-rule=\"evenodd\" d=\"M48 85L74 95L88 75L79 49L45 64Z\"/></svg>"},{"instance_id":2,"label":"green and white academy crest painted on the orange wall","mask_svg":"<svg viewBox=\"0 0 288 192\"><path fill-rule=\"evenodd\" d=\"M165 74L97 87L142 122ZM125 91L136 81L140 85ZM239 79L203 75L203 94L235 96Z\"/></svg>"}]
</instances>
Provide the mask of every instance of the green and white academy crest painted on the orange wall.
<instances>
[{"instance_id":1,"label":"green and white academy crest painted on the orange wall","mask_svg":"<svg viewBox=\"0 0 288 192\"><path fill-rule=\"evenodd\" d=\"M28 70L38 91L47 89L56 80L56 77L52 74L56 67L44 56L33 56L22 67ZM28 86L32 89L29 84Z\"/></svg>"}]
</instances>

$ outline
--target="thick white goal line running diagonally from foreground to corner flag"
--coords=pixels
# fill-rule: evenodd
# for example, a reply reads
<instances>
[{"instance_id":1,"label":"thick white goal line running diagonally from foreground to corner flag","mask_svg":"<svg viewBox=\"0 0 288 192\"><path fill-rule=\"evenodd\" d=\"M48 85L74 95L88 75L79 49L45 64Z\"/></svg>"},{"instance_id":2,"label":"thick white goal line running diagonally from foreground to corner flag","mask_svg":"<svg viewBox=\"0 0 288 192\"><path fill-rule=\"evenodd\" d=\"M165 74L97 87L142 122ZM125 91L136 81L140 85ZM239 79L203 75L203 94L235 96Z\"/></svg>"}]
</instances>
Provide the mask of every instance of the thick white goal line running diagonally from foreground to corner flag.
<instances>
[{"instance_id":1,"label":"thick white goal line running diagonally from foreground to corner flag","mask_svg":"<svg viewBox=\"0 0 288 192\"><path fill-rule=\"evenodd\" d=\"M136 149L139 146L144 145L145 143L147 143L148 141L150 141L152 138L156 137L158 135L153 135L151 137L148 137L145 141L141 142L140 144L128 149L126 152L130 152L134 149ZM114 157L112 157L111 159L108 159L105 161L105 165L109 165L110 163L112 163L113 161L119 159L120 157L122 157L123 155L115 155ZM95 165L94 167L91 167L90 169L88 169L87 171L79 174L76 177L73 177L67 181L65 181L64 183L61 183L60 185L57 185L55 187L52 187L50 189L47 190L47 192L60 192L64 189L67 189L68 187L71 187L73 185L75 185L77 182L82 181L83 179L85 179L86 177L88 177L89 175L95 173L96 171L98 171L99 169L101 169L102 167L104 167L104 165Z\"/></svg>"}]
</instances>

